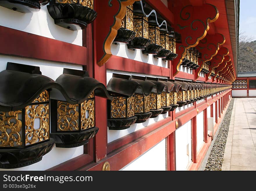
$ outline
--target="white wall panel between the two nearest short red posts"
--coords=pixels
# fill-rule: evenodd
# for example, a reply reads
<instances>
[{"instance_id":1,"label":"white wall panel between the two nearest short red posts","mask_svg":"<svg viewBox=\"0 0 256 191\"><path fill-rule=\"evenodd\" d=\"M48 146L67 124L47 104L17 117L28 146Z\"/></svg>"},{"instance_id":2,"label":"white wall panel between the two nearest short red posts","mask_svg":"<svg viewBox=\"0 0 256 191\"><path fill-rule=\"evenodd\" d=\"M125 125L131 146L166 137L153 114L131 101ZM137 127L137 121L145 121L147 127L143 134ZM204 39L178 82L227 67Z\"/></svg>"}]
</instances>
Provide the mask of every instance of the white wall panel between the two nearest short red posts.
<instances>
[{"instance_id":1,"label":"white wall panel between the two nearest short red posts","mask_svg":"<svg viewBox=\"0 0 256 191\"><path fill-rule=\"evenodd\" d=\"M175 131L176 170L186 170L191 163L191 120Z\"/></svg>"}]
</instances>

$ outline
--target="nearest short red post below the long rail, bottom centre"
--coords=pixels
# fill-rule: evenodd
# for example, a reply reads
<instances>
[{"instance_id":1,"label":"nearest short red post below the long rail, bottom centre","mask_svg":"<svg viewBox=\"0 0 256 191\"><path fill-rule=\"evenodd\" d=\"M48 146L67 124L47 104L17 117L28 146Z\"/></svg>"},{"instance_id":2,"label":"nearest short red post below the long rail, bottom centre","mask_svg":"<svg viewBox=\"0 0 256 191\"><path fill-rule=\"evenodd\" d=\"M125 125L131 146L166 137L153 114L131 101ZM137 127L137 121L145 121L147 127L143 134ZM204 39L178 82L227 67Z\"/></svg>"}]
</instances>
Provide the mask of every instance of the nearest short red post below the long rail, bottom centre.
<instances>
[{"instance_id":1,"label":"nearest short red post below the long rail, bottom centre","mask_svg":"<svg viewBox=\"0 0 256 191\"><path fill-rule=\"evenodd\" d=\"M169 170L176 170L175 131L169 135Z\"/></svg>"}]
</instances>

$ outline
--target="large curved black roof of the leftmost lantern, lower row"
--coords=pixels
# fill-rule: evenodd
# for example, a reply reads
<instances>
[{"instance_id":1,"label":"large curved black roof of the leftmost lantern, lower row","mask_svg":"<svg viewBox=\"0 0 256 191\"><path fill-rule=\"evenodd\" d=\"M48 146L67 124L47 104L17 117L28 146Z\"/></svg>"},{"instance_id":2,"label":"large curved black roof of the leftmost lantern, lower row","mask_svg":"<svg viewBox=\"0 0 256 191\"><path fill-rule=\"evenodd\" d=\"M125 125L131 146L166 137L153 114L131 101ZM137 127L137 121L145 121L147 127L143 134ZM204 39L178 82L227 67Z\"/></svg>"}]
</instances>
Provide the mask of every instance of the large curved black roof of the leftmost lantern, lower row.
<instances>
[{"instance_id":1,"label":"large curved black roof of the leftmost lantern, lower row","mask_svg":"<svg viewBox=\"0 0 256 191\"><path fill-rule=\"evenodd\" d=\"M7 63L0 72L0 110L19 110L33 102L44 90L60 88L51 78L42 75L40 67Z\"/></svg>"}]
</instances>

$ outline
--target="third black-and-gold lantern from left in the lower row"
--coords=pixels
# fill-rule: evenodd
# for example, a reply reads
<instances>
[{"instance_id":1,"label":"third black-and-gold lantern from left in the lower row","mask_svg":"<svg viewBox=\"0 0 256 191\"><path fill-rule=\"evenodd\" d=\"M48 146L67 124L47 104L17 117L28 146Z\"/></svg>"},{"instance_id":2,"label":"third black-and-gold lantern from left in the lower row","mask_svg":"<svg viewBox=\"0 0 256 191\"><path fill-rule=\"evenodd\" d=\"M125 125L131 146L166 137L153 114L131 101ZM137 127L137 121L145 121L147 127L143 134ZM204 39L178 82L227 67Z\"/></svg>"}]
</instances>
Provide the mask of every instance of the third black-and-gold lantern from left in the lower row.
<instances>
[{"instance_id":1,"label":"third black-and-gold lantern from left in the lower row","mask_svg":"<svg viewBox=\"0 0 256 191\"><path fill-rule=\"evenodd\" d=\"M140 90L138 90L140 89ZM135 92L143 94L143 87L131 80L131 76L113 74L107 90L114 98L108 101L108 127L110 130L129 128L137 120L135 116Z\"/></svg>"}]
</instances>

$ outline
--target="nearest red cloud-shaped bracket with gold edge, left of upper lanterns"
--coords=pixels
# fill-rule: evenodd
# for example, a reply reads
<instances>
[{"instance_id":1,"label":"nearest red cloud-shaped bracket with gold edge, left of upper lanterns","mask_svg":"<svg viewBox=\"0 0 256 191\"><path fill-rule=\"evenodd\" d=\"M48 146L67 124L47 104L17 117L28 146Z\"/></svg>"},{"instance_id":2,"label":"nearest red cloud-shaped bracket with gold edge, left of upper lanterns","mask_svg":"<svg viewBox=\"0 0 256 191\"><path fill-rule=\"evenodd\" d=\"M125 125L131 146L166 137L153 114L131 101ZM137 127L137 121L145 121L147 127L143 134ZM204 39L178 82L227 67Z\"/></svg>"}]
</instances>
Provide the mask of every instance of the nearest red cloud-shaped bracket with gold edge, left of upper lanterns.
<instances>
[{"instance_id":1,"label":"nearest red cloud-shaped bracket with gold edge, left of upper lanterns","mask_svg":"<svg viewBox=\"0 0 256 191\"><path fill-rule=\"evenodd\" d=\"M112 56L111 44L114 41L121 21L126 14L126 6L140 0L104 0L95 1L94 9L98 13L94 24L96 25L95 38L96 58L99 66L104 65Z\"/></svg>"}]
</instances>

